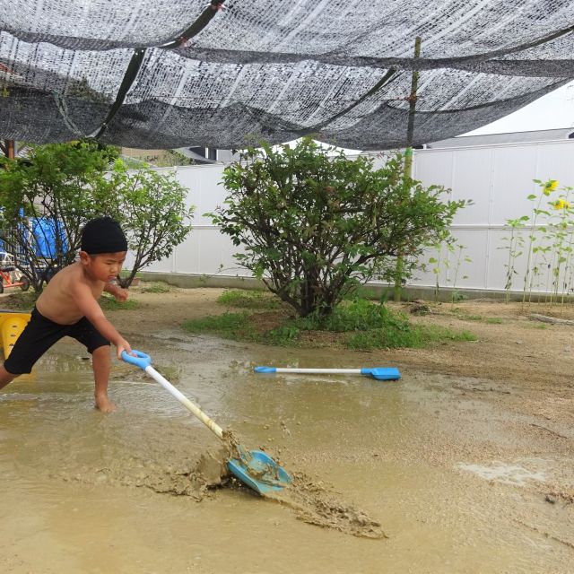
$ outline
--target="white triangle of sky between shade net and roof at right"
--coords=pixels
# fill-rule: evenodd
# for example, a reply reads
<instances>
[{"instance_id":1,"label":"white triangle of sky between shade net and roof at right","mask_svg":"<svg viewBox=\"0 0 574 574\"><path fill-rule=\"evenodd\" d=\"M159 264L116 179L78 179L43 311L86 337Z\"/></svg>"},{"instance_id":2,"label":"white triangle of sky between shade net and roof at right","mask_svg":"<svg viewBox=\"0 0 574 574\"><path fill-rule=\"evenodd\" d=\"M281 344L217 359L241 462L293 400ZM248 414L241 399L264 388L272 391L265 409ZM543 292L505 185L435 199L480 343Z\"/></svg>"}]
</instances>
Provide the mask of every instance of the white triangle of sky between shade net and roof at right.
<instances>
[{"instance_id":1,"label":"white triangle of sky between shade net and roof at right","mask_svg":"<svg viewBox=\"0 0 574 574\"><path fill-rule=\"evenodd\" d=\"M547 93L507 117L465 135L505 134L574 126L574 82Z\"/></svg>"}]
</instances>

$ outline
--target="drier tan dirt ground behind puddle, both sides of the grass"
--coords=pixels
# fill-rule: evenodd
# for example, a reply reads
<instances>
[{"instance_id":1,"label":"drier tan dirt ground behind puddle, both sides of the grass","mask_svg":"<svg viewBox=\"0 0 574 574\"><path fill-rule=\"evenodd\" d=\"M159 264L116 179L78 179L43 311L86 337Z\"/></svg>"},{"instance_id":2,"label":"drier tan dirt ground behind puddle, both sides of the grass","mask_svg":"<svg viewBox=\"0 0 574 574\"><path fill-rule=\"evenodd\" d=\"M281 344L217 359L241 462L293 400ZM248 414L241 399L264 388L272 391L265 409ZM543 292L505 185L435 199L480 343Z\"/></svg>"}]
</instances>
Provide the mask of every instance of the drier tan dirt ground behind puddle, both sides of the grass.
<instances>
[{"instance_id":1,"label":"drier tan dirt ground behind puddle, both sides of the grass","mask_svg":"<svg viewBox=\"0 0 574 574\"><path fill-rule=\"evenodd\" d=\"M143 283L144 285L145 283ZM178 289L169 292L145 292L132 288L138 309L109 311L109 318L123 333L138 333L145 323L152 331L179 329L184 319L219 315L237 311L217 303L224 291L215 288ZM415 304L387 303L407 314ZM427 315L410 314L413 323L448 326L453 330L473 333L476 342L452 342L433 345L428 349L392 349L371 352L384 354L386 361L395 361L405 368L447 373L461 377L505 379L522 385L529 393L539 390L552 396L571 394L574 386L574 307L549 306L500 300L465 300L455 304L426 301ZM557 319L555 324L540 320L537 315ZM568 325L568 321L572 321ZM358 353L361 354L361 353ZM533 397L534 398L534 397ZM540 406L542 396L535 402ZM570 420L572 404L560 409L553 405L556 415ZM525 404L526 408L526 404ZM570 419L568 418L570 414Z\"/></svg>"}]
</instances>

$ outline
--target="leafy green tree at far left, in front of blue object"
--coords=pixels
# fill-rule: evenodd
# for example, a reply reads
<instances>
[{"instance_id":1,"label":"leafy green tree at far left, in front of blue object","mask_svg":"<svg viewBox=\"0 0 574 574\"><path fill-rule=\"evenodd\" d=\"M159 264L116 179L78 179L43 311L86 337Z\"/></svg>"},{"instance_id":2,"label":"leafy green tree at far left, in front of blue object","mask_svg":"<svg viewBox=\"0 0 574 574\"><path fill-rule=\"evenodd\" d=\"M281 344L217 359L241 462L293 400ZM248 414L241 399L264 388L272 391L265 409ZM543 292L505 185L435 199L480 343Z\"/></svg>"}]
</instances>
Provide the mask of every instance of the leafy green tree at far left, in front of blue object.
<instances>
[{"instance_id":1,"label":"leafy green tree at far left, in front of blue object","mask_svg":"<svg viewBox=\"0 0 574 574\"><path fill-rule=\"evenodd\" d=\"M74 261L83 224L100 213L104 172L117 158L96 142L30 145L29 157L0 157L0 240L35 291ZM39 243L54 238L51 253ZM43 241L42 241L43 240Z\"/></svg>"}]
</instances>

